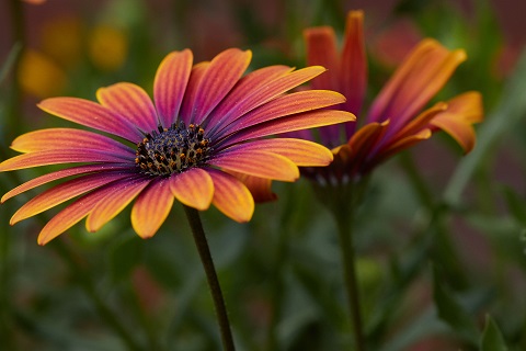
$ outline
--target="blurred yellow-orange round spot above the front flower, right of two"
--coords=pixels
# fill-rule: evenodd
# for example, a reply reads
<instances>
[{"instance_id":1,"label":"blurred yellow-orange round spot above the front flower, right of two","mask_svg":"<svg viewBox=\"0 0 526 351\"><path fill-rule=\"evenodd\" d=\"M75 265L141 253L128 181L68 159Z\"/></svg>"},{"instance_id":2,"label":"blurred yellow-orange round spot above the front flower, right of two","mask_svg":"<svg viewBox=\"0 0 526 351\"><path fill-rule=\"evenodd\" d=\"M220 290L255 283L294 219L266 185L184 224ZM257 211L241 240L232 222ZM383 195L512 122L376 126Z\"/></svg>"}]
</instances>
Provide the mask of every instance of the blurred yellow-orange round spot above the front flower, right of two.
<instances>
[{"instance_id":1,"label":"blurred yellow-orange round spot above the front flower, right of two","mask_svg":"<svg viewBox=\"0 0 526 351\"><path fill-rule=\"evenodd\" d=\"M101 70L114 71L124 65L128 54L128 38L125 31L102 24L90 36L89 55L93 65Z\"/></svg>"}]
</instances>

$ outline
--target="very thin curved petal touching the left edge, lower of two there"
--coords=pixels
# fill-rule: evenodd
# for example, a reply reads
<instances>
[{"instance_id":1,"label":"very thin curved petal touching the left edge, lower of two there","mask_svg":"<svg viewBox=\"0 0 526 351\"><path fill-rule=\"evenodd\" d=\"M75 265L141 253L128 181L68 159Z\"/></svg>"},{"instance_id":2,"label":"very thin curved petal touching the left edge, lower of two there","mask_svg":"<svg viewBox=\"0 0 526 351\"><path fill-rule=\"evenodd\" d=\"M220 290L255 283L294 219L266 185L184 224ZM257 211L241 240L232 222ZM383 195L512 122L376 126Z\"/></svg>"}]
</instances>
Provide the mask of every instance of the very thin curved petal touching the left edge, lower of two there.
<instances>
[{"instance_id":1,"label":"very thin curved petal touching the left edge, lower of two there","mask_svg":"<svg viewBox=\"0 0 526 351\"><path fill-rule=\"evenodd\" d=\"M78 174L88 174L92 172L101 172L101 171L111 171L111 170L126 170L129 169L128 165L124 163L103 163L103 165L85 165L85 166L78 166L78 167L71 167L68 169L62 169L56 172L47 173L41 177L37 177L35 179L32 179L30 181L26 181L25 183L8 191L2 199L0 200L0 203L5 202L8 199L11 199L13 196L16 196L23 192L26 192L27 190L34 189L36 186L46 184L48 182L62 179L66 177L71 177L71 176L78 176Z\"/></svg>"}]
</instances>

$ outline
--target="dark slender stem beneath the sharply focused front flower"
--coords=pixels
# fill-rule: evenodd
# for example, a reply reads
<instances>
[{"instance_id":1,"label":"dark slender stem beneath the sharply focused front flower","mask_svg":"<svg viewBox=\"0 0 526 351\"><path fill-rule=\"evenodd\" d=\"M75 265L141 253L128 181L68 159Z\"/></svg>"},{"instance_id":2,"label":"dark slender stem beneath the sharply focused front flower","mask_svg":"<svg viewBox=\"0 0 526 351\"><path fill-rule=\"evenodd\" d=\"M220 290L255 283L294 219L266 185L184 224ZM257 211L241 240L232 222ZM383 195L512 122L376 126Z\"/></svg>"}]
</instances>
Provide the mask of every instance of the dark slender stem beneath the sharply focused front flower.
<instances>
[{"instance_id":1,"label":"dark slender stem beneath the sharply focused front flower","mask_svg":"<svg viewBox=\"0 0 526 351\"><path fill-rule=\"evenodd\" d=\"M225 299L222 297L219 280L217 279L214 261L211 260L210 249L208 248L205 230L203 229L203 224L201 223L199 213L197 210L186 205L184 205L184 212L188 218L194 241L205 269L208 287L210 288L210 294L214 299L216 317L221 333L222 348L225 351L233 351L233 339L230 330L230 322L228 321L227 308L225 306Z\"/></svg>"}]
</instances>

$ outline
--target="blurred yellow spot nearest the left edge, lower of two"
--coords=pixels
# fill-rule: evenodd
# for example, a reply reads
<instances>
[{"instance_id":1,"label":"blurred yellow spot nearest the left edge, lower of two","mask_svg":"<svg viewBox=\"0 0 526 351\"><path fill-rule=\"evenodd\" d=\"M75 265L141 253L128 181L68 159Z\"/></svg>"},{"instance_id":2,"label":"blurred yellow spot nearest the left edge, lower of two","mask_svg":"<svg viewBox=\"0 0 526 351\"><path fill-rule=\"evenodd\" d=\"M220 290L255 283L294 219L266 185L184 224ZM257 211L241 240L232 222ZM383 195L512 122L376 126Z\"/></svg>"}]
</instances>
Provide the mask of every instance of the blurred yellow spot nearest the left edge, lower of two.
<instances>
[{"instance_id":1,"label":"blurred yellow spot nearest the left edge, lower of two","mask_svg":"<svg viewBox=\"0 0 526 351\"><path fill-rule=\"evenodd\" d=\"M24 92L39 99L60 94L67 84L64 70L48 56L34 49L24 50L18 79Z\"/></svg>"}]
</instances>

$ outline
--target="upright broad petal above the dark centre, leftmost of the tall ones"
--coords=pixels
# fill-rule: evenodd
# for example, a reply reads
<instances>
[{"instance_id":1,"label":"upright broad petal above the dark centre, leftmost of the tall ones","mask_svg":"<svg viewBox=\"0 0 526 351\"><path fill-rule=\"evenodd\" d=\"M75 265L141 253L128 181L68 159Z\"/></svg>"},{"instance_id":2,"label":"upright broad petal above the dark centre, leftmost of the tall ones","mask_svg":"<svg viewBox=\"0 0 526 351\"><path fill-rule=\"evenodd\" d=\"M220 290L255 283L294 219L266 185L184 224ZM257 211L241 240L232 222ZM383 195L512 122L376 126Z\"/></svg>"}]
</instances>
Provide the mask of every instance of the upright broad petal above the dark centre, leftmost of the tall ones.
<instances>
[{"instance_id":1,"label":"upright broad petal above the dark centre, leftmost of the tall ones","mask_svg":"<svg viewBox=\"0 0 526 351\"><path fill-rule=\"evenodd\" d=\"M188 49L173 52L162 60L157 70L153 95L159 117L165 127L178 120L193 59Z\"/></svg>"}]
</instances>

